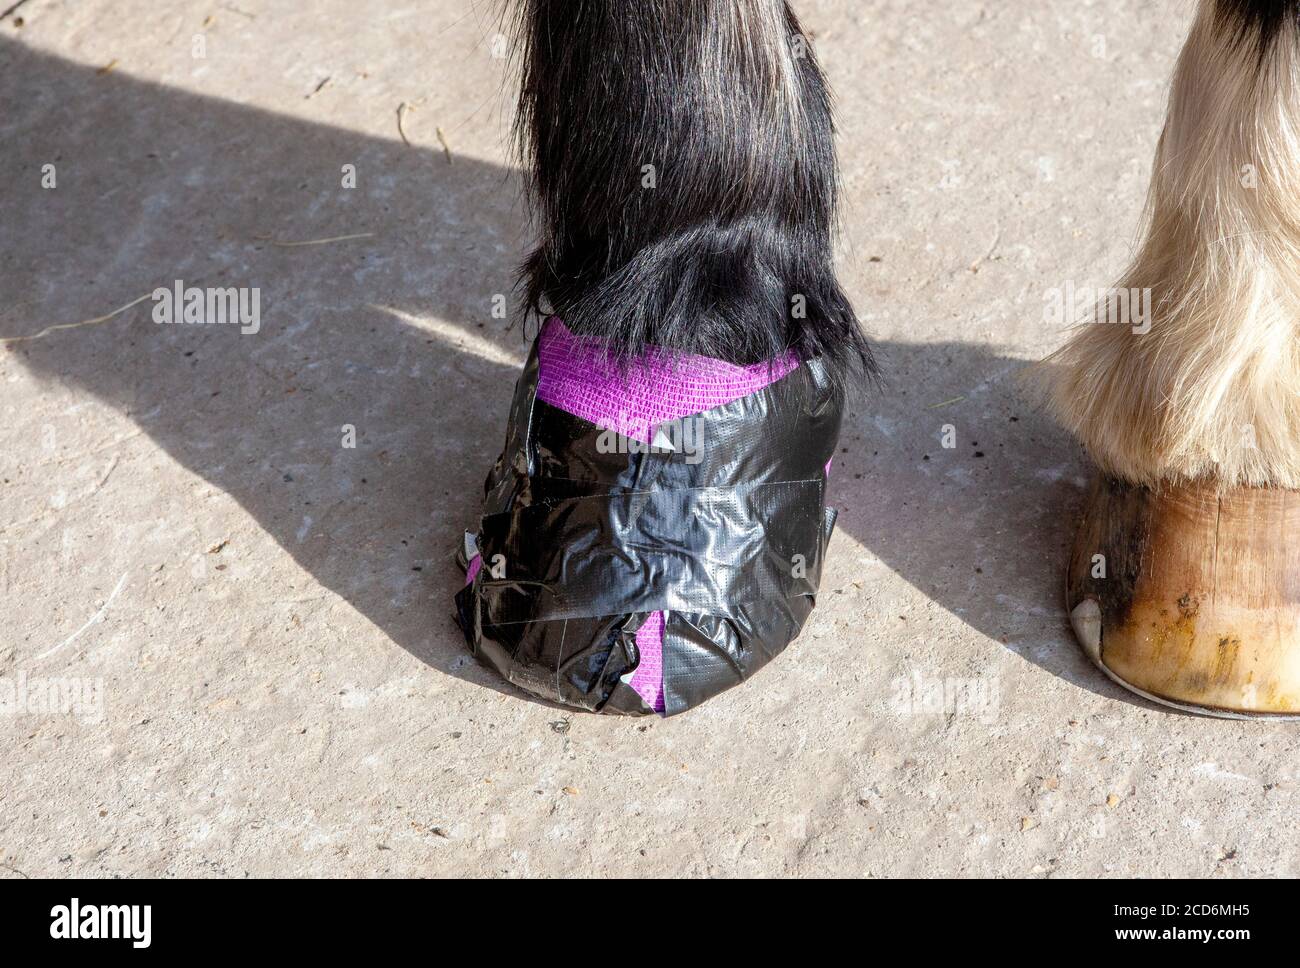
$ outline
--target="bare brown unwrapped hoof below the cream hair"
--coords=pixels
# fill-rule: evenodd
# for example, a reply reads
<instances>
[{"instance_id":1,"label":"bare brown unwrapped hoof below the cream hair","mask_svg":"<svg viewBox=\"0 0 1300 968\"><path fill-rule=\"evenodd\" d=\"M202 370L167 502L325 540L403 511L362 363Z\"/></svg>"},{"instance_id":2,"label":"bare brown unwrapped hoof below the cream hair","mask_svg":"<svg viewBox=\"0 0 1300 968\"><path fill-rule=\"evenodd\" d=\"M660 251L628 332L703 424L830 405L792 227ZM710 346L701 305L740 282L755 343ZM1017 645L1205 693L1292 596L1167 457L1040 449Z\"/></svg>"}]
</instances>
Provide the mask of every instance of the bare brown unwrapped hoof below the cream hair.
<instances>
[{"instance_id":1,"label":"bare brown unwrapped hoof below the cream hair","mask_svg":"<svg viewBox=\"0 0 1300 968\"><path fill-rule=\"evenodd\" d=\"M1300 716L1297 534L1297 491L1100 478L1067 576L1079 643L1158 703Z\"/></svg>"}]
</instances>

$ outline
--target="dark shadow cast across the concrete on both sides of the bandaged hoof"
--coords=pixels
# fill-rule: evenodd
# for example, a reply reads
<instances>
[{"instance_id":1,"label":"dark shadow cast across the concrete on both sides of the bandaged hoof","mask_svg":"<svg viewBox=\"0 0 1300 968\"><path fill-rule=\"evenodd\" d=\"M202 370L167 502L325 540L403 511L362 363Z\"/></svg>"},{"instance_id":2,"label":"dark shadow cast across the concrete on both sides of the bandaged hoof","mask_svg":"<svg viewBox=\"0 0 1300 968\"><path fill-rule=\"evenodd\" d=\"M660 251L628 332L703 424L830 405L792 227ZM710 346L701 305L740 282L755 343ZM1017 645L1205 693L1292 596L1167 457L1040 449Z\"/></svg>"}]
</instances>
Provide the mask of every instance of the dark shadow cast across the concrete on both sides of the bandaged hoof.
<instances>
[{"instance_id":1,"label":"dark shadow cast across the concrete on both sides of the bandaged hoof","mask_svg":"<svg viewBox=\"0 0 1300 968\"><path fill-rule=\"evenodd\" d=\"M517 695L460 661L448 554L526 350L491 314L525 242L516 173L13 42L0 42L0 335L95 317L176 279L259 287L263 321L256 335L162 326L144 301L6 350L127 413L399 646ZM49 162L57 188L42 190ZM368 235L277 244L354 234ZM844 531L979 631L1119 695L1062 616L1084 472L1019 403L1023 364L957 343L879 350L889 391L855 405L832 479ZM1027 477L1035 463L1058 470Z\"/></svg>"}]
</instances>

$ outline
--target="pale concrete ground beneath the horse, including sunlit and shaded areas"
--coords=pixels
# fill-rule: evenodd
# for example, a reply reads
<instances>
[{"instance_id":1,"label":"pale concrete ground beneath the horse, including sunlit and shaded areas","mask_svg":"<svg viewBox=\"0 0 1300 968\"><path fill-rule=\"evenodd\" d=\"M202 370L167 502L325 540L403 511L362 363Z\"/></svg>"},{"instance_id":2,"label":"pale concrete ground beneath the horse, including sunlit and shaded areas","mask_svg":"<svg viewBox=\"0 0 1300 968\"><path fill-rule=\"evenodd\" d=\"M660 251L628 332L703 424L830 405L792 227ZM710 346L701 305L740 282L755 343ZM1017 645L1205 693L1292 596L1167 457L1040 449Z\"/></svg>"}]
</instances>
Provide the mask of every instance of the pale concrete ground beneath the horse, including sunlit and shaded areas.
<instances>
[{"instance_id":1,"label":"pale concrete ground beneath the horse, including sunlit and shaded areas","mask_svg":"<svg viewBox=\"0 0 1300 968\"><path fill-rule=\"evenodd\" d=\"M1019 379L1131 251L1190 6L797 8L889 385L810 626L666 721L530 700L450 617L525 352L490 6L0 22L0 876L1300 873L1296 728L1075 647L1088 463ZM177 279L259 331L101 318Z\"/></svg>"}]
</instances>

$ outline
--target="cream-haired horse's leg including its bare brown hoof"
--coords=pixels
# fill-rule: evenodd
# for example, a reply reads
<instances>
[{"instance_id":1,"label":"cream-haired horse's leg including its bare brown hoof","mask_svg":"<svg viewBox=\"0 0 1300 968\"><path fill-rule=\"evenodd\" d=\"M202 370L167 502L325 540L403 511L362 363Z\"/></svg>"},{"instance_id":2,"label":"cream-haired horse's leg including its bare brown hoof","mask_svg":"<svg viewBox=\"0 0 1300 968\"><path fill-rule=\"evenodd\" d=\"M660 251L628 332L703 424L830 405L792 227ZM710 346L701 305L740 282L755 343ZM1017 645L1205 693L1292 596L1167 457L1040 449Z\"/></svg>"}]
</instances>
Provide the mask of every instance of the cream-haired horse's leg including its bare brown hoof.
<instances>
[{"instance_id":1,"label":"cream-haired horse's leg including its bare brown hoof","mask_svg":"<svg viewBox=\"0 0 1300 968\"><path fill-rule=\"evenodd\" d=\"M1300 0L1202 0L1149 207L1058 355L1056 409L1102 470L1074 628L1161 700L1300 713Z\"/></svg>"}]
</instances>

